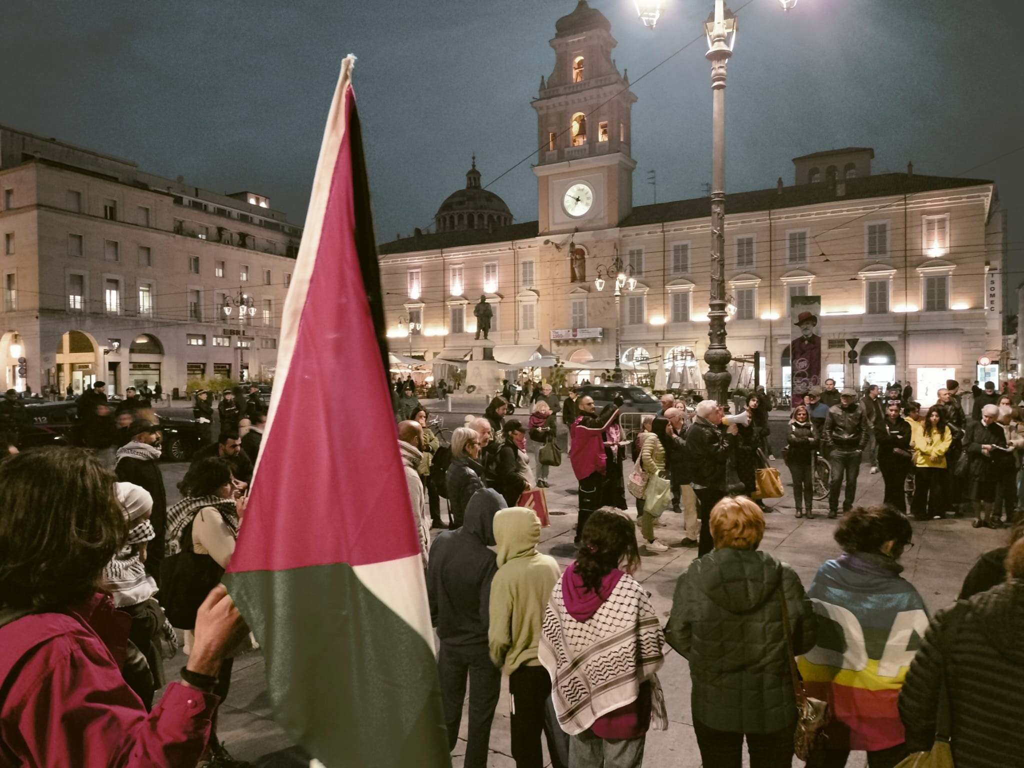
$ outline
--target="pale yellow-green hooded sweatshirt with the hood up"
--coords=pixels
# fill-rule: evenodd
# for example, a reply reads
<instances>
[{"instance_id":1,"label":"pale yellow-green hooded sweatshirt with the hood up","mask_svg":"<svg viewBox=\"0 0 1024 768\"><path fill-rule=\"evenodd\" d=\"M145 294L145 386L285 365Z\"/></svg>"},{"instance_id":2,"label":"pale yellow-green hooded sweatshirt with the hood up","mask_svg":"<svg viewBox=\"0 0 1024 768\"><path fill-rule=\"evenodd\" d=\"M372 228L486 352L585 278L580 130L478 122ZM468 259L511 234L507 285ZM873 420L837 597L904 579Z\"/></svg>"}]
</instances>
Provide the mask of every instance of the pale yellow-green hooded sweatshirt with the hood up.
<instances>
[{"instance_id":1,"label":"pale yellow-green hooded sweatshirt with the hood up","mask_svg":"<svg viewBox=\"0 0 1024 768\"><path fill-rule=\"evenodd\" d=\"M490 660L511 675L521 665L540 666L537 646L551 590L558 582L558 563L537 551L541 521L524 507L495 515L498 572L490 584L487 642Z\"/></svg>"}]
</instances>

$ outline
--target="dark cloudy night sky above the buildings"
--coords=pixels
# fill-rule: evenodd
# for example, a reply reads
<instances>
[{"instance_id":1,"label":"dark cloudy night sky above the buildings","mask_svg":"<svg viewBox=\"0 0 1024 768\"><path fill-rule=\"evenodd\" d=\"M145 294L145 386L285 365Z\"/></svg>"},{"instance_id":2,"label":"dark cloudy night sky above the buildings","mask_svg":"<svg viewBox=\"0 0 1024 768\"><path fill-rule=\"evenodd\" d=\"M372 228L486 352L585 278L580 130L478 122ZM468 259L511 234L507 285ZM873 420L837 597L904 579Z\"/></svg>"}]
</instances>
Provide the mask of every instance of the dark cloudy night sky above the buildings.
<instances>
[{"instance_id":1,"label":"dark cloudy night sky above the buildings","mask_svg":"<svg viewBox=\"0 0 1024 768\"><path fill-rule=\"evenodd\" d=\"M629 70L634 204L699 197L711 180L712 0L667 0L655 32L633 0L591 3ZM548 40L575 0L10 2L0 22L0 123L137 162L216 191L249 189L302 222L341 58L355 53L378 240L433 224L465 185L536 152L529 105ZM991 178L1024 269L1020 0L732 0L727 189L793 183L792 158L873 146L873 171ZM1000 160L1000 155L1011 153ZM489 186L537 218L530 161ZM1022 279L1018 271L1009 283ZM1012 311L1012 310L1011 310Z\"/></svg>"}]
</instances>

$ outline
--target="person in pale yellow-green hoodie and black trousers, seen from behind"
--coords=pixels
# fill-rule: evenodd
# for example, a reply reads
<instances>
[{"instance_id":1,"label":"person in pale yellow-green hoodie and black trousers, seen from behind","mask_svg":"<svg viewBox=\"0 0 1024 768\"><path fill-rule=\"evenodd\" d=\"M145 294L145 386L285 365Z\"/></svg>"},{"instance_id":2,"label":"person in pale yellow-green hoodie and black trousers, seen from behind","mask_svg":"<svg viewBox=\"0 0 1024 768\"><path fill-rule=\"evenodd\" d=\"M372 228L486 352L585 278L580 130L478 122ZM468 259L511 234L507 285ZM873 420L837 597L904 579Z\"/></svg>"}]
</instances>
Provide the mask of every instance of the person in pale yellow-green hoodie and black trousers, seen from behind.
<instances>
[{"instance_id":1,"label":"person in pale yellow-green hoodie and black trousers, seen from behind","mask_svg":"<svg viewBox=\"0 0 1024 768\"><path fill-rule=\"evenodd\" d=\"M498 572L490 583L487 643L490 660L509 676L512 694L512 758L516 768L542 768L541 732L554 765L560 734L546 720L551 677L537 657L544 610L560 572L553 557L537 551L541 521L524 507L495 515Z\"/></svg>"}]
</instances>

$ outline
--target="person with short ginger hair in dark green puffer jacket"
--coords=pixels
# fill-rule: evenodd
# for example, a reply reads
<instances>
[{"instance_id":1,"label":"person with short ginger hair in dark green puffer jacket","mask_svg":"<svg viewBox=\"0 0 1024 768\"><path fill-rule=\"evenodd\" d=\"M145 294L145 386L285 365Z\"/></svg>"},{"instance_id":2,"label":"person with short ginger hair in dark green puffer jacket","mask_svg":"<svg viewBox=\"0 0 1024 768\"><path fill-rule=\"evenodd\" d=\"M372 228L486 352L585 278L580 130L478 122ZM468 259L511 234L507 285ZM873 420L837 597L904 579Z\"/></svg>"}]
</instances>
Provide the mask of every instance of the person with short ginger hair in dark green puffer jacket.
<instances>
[{"instance_id":1,"label":"person with short ginger hair in dark green puffer jacket","mask_svg":"<svg viewBox=\"0 0 1024 768\"><path fill-rule=\"evenodd\" d=\"M764 514L745 497L711 511L715 550L676 583L665 635L690 663L693 729L705 765L793 764L797 705L782 626L785 598L794 653L814 647L817 624L796 571L758 552ZM779 593L781 590L781 593Z\"/></svg>"}]
</instances>

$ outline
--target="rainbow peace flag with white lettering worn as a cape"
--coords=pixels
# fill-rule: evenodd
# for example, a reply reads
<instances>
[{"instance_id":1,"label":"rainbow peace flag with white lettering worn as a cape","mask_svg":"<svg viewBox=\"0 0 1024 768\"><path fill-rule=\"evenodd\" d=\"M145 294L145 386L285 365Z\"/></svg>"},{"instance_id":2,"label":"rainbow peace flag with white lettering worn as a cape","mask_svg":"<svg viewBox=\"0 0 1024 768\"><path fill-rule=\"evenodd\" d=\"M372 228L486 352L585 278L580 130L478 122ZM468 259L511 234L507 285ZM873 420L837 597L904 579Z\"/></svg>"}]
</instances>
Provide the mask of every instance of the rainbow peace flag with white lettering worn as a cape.
<instances>
[{"instance_id":1,"label":"rainbow peace flag with white lettering worn as a cape","mask_svg":"<svg viewBox=\"0 0 1024 768\"><path fill-rule=\"evenodd\" d=\"M809 696L827 699L831 749L903 743L896 703L928 629L925 602L885 555L846 553L814 577L817 645L799 659Z\"/></svg>"}]
</instances>

